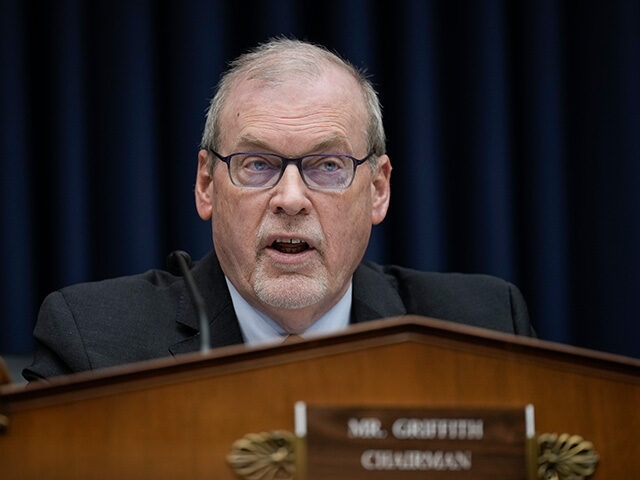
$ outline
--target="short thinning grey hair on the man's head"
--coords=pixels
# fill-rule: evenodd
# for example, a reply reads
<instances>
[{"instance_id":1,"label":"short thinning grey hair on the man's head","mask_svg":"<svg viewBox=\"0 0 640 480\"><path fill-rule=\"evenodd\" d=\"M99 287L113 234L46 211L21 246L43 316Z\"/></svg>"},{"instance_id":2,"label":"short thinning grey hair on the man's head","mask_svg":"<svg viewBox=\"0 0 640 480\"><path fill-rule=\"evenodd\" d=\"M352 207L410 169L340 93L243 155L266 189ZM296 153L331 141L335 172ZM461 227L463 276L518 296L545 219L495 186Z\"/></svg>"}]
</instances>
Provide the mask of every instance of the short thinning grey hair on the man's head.
<instances>
[{"instance_id":1,"label":"short thinning grey hair on the man's head","mask_svg":"<svg viewBox=\"0 0 640 480\"><path fill-rule=\"evenodd\" d=\"M368 116L363 133L366 135L368 151L374 154L371 164L373 167L377 157L385 154L386 147L380 101L366 73L321 45L288 38L271 39L230 63L207 110L201 148L220 148L220 115L229 92L240 78L257 78L273 85L281 83L286 75L291 74L314 79L320 76L321 67L327 63L346 70L360 86Z\"/></svg>"}]
</instances>

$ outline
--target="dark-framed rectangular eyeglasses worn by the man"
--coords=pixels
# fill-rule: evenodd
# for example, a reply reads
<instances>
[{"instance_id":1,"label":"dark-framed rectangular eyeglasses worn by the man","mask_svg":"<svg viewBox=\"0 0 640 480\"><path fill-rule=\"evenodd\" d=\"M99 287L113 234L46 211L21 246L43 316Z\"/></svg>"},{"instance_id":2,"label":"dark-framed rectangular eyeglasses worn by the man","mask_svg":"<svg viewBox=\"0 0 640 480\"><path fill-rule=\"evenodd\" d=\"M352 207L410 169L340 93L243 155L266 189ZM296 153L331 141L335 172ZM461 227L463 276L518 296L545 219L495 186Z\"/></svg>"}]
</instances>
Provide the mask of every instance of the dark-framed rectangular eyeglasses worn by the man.
<instances>
[{"instance_id":1,"label":"dark-framed rectangular eyeglasses worn by the man","mask_svg":"<svg viewBox=\"0 0 640 480\"><path fill-rule=\"evenodd\" d=\"M349 155L313 154L287 158L274 153L232 153L223 157L208 149L227 164L231 182L242 188L271 188L275 186L287 165L294 163L307 187L314 190L344 190L349 188L356 175L356 168L366 162L373 152L363 159Z\"/></svg>"}]
</instances>

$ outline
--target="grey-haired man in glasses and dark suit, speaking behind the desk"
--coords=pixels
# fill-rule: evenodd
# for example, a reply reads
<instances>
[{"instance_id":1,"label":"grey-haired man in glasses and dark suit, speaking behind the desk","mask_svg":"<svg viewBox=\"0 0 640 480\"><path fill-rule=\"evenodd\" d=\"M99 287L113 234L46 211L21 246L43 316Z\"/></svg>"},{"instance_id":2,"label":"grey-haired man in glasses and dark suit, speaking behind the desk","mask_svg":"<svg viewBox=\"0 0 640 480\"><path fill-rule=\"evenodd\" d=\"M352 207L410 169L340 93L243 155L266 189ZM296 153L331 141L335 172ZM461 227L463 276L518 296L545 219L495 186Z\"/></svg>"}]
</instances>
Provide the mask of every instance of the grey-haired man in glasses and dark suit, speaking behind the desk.
<instances>
[{"instance_id":1,"label":"grey-haired man in glasses and dark suit, speaking behind the desk","mask_svg":"<svg viewBox=\"0 0 640 480\"><path fill-rule=\"evenodd\" d=\"M207 114L195 199L214 253L193 268L214 347L404 315L529 335L518 290L486 276L361 263L389 205L378 98L324 48L274 40L239 57ZM167 272L45 300L29 380L194 351L184 281Z\"/></svg>"}]
</instances>

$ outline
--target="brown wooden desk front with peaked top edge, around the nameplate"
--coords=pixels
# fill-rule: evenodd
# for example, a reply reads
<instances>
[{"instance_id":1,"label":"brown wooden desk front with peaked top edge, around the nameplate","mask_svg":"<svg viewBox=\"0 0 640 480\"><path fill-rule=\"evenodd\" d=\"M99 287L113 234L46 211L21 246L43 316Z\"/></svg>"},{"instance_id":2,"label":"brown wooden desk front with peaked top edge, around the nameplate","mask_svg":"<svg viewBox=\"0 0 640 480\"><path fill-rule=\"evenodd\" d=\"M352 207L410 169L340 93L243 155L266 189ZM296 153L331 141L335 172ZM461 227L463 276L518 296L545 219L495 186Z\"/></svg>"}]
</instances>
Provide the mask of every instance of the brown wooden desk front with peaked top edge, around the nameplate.
<instances>
[{"instance_id":1,"label":"brown wooden desk front with peaked top edge, around the nameplate","mask_svg":"<svg viewBox=\"0 0 640 480\"><path fill-rule=\"evenodd\" d=\"M249 432L323 406L535 406L595 445L593 478L640 472L640 361L420 317L0 387L0 478L234 479ZM2 425L2 424L0 424Z\"/></svg>"}]
</instances>

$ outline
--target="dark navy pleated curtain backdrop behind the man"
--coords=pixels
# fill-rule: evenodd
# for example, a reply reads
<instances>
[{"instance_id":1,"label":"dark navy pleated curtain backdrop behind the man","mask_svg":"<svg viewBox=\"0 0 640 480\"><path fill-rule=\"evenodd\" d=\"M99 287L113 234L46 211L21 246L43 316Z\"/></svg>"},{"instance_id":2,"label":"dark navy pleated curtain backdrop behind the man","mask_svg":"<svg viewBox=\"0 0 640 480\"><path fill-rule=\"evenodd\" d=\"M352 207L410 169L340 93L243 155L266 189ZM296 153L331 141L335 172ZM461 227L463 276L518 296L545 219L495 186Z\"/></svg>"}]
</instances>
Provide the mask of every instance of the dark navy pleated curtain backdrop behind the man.
<instances>
[{"instance_id":1,"label":"dark navy pleated curtain backdrop behind the man","mask_svg":"<svg viewBox=\"0 0 640 480\"><path fill-rule=\"evenodd\" d=\"M31 352L52 290L211 248L204 111L274 35L379 90L393 194L368 258L504 277L540 337L640 357L640 6L545 0L0 0L0 353Z\"/></svg>"}]
</instances>

